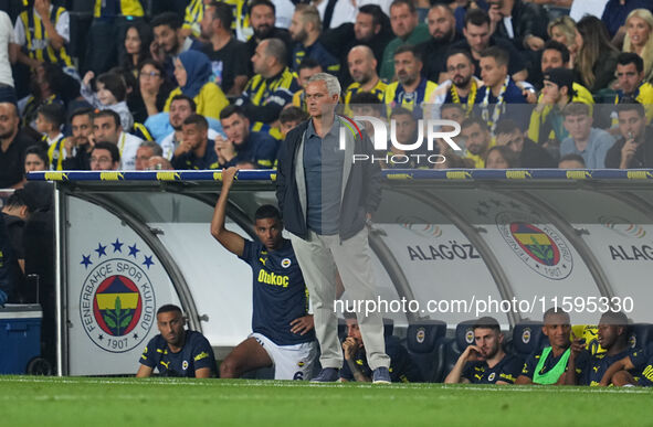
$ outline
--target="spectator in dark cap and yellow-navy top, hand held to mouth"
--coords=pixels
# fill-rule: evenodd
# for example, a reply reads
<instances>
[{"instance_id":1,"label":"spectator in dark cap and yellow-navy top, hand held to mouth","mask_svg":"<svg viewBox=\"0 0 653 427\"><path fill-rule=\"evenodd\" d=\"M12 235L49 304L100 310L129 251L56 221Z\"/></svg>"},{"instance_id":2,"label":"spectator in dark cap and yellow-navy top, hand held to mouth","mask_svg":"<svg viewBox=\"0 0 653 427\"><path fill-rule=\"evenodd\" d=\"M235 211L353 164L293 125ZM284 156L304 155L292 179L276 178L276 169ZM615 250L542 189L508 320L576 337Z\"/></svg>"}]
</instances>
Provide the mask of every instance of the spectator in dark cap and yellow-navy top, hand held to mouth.
<instances>
[{"instance_id":1,"label":"spectator in dark cap and yellow-navy top, hand held to mouth","mask_svg":"<svg viewBox=\"0 0 653 427\"><path fill-rule=\"evenodd\" d=\"M528 137L535 141L545 143L555 140L557 143L569 135L562 125L562 110L573 100L573 72L569 68L558 67L547 70L544 74L544 87L537 106L530 114Z\"/></svg>"}]
</instances>

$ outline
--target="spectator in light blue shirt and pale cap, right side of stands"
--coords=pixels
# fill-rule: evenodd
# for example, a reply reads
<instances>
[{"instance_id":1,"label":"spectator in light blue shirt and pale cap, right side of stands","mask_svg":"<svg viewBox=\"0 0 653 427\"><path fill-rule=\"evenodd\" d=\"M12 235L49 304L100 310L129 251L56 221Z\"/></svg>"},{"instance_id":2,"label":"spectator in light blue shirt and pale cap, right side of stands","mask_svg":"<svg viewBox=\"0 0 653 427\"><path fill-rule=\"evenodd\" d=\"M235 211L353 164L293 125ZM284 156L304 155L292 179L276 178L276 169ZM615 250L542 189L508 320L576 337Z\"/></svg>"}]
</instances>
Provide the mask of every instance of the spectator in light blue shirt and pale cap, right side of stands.
<instances>
[{"instance_id":1,"label":"spectator in light blue shirt and pale cap, right side of stands","mask_svg":"<svg viewBox=\"0 0 653 427\"><path fill-rule=\"evenodd\" d=\"M560 156L580 154L587 168L605 168L605 154L614 145L614 139L607 131L592 127L590 107L571 103L565 107L562 114L569 137L560 145Z\"/></svg>"}]
</instances>

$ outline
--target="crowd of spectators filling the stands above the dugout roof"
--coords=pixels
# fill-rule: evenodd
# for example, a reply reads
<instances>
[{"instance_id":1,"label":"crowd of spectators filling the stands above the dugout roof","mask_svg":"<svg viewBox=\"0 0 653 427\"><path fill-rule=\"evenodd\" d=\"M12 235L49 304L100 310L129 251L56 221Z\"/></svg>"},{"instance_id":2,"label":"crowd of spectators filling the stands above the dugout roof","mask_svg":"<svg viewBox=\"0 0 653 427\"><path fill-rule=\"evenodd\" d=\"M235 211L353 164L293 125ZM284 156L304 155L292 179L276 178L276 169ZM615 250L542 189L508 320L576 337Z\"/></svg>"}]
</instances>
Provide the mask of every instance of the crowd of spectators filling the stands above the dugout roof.
<instances>
[{"instance_id":1,"label":"crowd of spectators filling the stands above the dugout roof","mask_svg":"<svg viewBox=\"0 0 653 427\"><path fill-rule=\"evenodd\" d=\"M97 0L87 28L77 2L23 3L0 13L0 188L274 168L320 72L340 113L396 121L383 168L653 166L646 1ZM428 151L429 119L456 121L461 150Z\"/></svg>"}]
</instances>

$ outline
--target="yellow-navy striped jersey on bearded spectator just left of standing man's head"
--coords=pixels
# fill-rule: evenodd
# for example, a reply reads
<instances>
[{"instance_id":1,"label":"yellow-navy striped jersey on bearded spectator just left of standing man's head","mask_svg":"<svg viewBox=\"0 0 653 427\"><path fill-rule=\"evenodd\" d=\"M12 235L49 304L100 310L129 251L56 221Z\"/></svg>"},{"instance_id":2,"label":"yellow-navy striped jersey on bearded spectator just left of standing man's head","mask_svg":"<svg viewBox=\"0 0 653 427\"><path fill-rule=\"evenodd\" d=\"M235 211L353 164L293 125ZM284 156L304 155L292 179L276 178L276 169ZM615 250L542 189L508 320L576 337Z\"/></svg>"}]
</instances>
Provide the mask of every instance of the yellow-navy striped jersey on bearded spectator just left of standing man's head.
<instances>
[{"instance_id":1,"label":"yellow-navy striped jersey on bearded spectator just left of standing man's head","mask_svg":"<svg viewBox=\"0 0 653 427\"><path fill-rule=\"evenodd\" d=\"M242 96L238 99L238 105L246 105L251 103L257 107L276 104L278 107L284 107L292 103L294 94L299 90L299 83L286 67L282 73L275 77L264 78L261 74L256 74L247 82ZM281 139L281 131L273 124L264 124L255 121L252 124L252 131L267 132L275 139Z\"/></svg>"}]
</instances>

